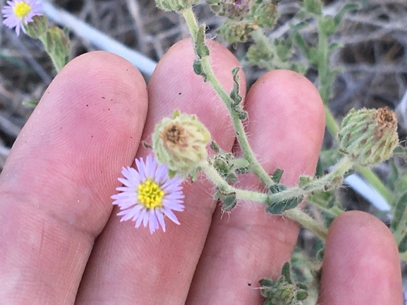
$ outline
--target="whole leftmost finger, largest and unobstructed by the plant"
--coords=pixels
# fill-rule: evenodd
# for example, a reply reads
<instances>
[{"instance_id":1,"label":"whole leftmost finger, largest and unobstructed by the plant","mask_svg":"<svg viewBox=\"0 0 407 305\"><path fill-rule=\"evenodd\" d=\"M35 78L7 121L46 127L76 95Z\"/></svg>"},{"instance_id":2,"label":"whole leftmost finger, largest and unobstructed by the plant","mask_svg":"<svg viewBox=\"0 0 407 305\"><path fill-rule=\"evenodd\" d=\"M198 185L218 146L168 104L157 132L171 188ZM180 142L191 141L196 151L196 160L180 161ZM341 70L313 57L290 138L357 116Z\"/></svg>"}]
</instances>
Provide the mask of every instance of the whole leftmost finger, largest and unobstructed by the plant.
<instances>
[{"instance_id":1,"label":"whole leftmost finger, largest and unobstructed by the plant","mask_svg":"<svg viewBox=\"0 0 407 305\"><path fill-rule=\"evenodd\" d=\"M146 113L142 75L119 56L85 54L56 76L1 173L1 304L73 304Z\"/></svg>"}]
</instances>

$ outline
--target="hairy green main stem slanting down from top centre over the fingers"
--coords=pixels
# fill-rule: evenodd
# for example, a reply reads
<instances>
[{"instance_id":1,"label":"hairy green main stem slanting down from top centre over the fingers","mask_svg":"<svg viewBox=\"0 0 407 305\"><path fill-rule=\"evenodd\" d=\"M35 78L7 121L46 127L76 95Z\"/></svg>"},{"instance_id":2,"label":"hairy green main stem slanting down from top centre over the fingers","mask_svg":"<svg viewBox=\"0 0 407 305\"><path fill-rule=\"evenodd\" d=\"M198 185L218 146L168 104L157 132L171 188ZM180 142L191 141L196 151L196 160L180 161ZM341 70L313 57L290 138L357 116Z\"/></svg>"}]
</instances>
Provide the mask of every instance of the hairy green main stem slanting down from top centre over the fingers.
<instances>
[{"instance_id":1,"label":"hairy green main stem slanting down from top centre over the fingers","mask_svg":"<svg viewBox=\"0 0 407 305\"><path fill-rule=\"evenodd\" d=\"M188 28L190 30L191 36L193 37L193 42L195 44L196 35L198 34L198 22L195 18L192 8L186 8L183 11L183 17L186 20ZM209 56L204 56L201 58L202 70L204 71L205 75L207 76L207 82L212 86L214 91L217 95L224 101L226 107L231 114L231 120L233 124L233 128L236 132L236 138L238 139L238 143L243 151L243 156L245 159L250 163L250 168L253 170L253 173L259 178L260 182L263 185L271 186L274 185L273 180L269 177L266 173L265 169L260 166L260 163L257 161L255 154L253 153L252 148L249 145L248 137L246 136L243 123L241 119L238 117L238 113L233 111L231 108L231 103L233 103L229 94L226 93L224 88L220 85L219 80L214 75L214 71L212 70L212 66L209 61Z\"/></svg>"}]
</instances>

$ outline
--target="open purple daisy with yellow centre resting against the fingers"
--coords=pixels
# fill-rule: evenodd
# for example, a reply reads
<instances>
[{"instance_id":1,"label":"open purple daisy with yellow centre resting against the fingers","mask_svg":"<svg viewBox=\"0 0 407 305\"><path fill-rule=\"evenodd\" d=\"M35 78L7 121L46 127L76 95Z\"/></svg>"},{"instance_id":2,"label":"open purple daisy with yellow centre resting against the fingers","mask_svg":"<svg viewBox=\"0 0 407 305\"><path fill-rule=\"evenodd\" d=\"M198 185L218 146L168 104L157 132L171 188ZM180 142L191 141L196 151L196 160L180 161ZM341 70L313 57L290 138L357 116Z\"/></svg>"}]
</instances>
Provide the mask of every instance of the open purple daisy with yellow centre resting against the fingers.
<instances>
[{"instance_id":1,"label":"open purple daisy with yellow centre resting against the fingers","mask_svg":"<svg viewBox=\"0 0 407 305\"><path fill-rule=\"evenodd\" d=\"M183 211L183 192L181 178L168 177L168 168L157 164L157 159L151 154L146 161L135 159L137 170L123 168L124 178L119 178L123 187L117 190L121 193L113 195L113 204L120 207L117 215L123 216L120 221L132 219L135 228L141 223L146 227L149 224L152 234L161 225L165 232L164 216L179 225L174 211Z\"/></svg>"}]
</instances>

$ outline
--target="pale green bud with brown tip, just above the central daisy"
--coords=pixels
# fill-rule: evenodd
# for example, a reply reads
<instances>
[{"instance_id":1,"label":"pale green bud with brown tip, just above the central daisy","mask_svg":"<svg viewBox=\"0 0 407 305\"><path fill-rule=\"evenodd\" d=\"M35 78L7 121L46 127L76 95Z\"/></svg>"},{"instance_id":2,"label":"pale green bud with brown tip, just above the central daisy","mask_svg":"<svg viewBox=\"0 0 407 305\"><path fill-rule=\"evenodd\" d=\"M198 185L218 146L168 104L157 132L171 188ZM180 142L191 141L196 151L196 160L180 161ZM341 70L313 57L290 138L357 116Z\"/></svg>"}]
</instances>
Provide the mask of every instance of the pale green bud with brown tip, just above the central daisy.
<instances>
[{"instance_id":1,"label":"pale green bud with brown tip, just above the central daisy","mask_svg":"<svg viewBox=\"0 0 407 305\"><path fill-rule=\"evenodd\" d=\"M152 134L152 148L159 163L185 177L207 159L211 135L196 116L174 111L163 118Z\"/></svg>"}]
</instances>

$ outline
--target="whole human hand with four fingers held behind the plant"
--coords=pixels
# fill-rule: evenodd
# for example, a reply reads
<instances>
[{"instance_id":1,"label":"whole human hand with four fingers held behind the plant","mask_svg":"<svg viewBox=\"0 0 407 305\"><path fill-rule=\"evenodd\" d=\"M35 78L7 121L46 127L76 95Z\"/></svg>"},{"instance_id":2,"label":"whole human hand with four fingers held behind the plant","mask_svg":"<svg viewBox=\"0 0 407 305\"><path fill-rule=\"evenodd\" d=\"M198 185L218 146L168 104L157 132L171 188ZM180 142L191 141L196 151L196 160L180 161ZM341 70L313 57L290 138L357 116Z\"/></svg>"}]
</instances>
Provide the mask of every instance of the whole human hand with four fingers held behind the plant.
<instances>
[{"instance_id":1,"label":"whole human hand with four fingers held behind the plant","mask_svg":"<svg viewBox=\"0 0 407 305\"><path fill-rule=\"evenodd\" d=\"M219 44L210 49L230 91L239 63ZM261 304L257 281L277 278L290 260L296 223L251 202L221 218L205 179L184 183L181 225L167 222L165 233L120 223L111 204L121 167L148 153L140 140L175 108L196 113L222 149L233 149L226 108L193 73L193 58L190 42L178 42L148 89L130 63L104 52L75 58L57 75L1 173L0 304ZM250 144L269 173L283 169L286 185L314 173L324 108L308 80L267 73L245 108ZM253 185L260 189L242 181ZM377 218L336 218L321 291L320 304L401 304L396 243Z\"/></svg>"}]
</instances>

